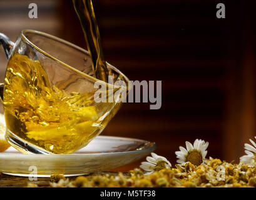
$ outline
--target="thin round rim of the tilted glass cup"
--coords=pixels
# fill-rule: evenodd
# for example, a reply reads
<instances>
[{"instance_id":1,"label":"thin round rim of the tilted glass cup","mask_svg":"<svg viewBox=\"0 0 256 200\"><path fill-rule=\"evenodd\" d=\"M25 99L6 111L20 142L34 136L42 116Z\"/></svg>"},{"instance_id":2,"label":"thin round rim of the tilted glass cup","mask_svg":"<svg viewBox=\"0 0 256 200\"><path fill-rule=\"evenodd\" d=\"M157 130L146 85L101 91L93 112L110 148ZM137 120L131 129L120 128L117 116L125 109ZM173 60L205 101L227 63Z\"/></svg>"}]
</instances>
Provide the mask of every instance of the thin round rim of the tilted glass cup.
<instances>
[{"instance_id":1,"label":"thin round rim of the tilted glass cup","mask_svg":"<svg viewBox=\"0 0 256 200\"><path fill-rule=\"evenodd\" d=\"M95 82L98 82L98 83L101 83L101 84L106 84L106 86L108 87L113 87L113 88L120 88L120 86L115 86L113 84L110 84L110 83L107 83L105 81L102 81L100 79L97 79L93 76L90 76L86 73L83 73L81 71L79 71L78 69L76 68L73 68L72 66L70 66L69 64L66 64L64 63L63 61L60 61L59 59L55 58L54 56L51 56L50 54L46 53L46 51L44 51L43 49L39 48L38 46L36 46L36 44L34 44L33 42L31 42L28 37L26 37L26 33L33 33L33 34L41 34L42 36L46 36L46 37L49 37L51 39L54 39L56 41L59 41L59 42L63 42L64 44L68 45L68 46L71 46L71 47L74 47L75 49L78 49L79 51L82 51L83 53L85 54L88 54L90 55L90 53L88 51L86 51L85 49L83 49L82 47L79 47L79 46L76 46L75 44L71 43L71 42L68 42L64 39L61 39L59 37L56 37L56 36L53 36L51 34L48 34L46 32L41 32L41 31L35 31L35 30L32 30L32 29L24 29L21 31L21 39L23 39L24 42L27 42L28 44L30 44L31 46L33 46L37 51L39 51L40 53L44 54L44 56L47 56L48 58L51 58L53 59L54 61L57 61L58 63L61 63L63 66L65 66L66 68L69 68L73 71L75 71L76 73L79 73L81 74L82 76L86 76L86 78L90 78L90 79L93 79L93 81ZM121 74L121 76L123 77L123 79L125 79L125 81L129 81L129 79L125 76L125 74L121 73L121 71L117 68L115 68L115 66L112 66L110 63L106 62L106 64L108 64L108 66L110 66L112 69L115 69L116 72L118 72L118 74Z\"/></svg>"}]
</instances>

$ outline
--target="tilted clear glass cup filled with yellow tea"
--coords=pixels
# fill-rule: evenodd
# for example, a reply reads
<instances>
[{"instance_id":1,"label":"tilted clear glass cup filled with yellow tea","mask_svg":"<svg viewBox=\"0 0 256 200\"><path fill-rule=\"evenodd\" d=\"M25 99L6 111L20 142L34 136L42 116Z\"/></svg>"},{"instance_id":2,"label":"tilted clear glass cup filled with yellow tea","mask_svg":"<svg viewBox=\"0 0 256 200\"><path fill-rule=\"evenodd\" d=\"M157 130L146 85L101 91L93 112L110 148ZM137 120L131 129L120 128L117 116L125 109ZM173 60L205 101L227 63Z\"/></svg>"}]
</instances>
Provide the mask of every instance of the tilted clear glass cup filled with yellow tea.
<instances>
[{"instance_id":1,"label":"tilted clear glass cup filled with yellow tea","mask_svg":"<svg viewBox=\"0 0 256 200\"><path fill-rule=\"evenodd\" d=\"M90 54L81 47L32 30L21 31L15 43L0 33L0 44L9 59L2 84L6 139L19 151L73 153L98 136L120 108L116 96L108 99L120 89L114 83L128 85L128 78L107 63L113 84L96 79ZM105 84L106 102L96 101L96 83Z\"/></svg>"}]
</instances>

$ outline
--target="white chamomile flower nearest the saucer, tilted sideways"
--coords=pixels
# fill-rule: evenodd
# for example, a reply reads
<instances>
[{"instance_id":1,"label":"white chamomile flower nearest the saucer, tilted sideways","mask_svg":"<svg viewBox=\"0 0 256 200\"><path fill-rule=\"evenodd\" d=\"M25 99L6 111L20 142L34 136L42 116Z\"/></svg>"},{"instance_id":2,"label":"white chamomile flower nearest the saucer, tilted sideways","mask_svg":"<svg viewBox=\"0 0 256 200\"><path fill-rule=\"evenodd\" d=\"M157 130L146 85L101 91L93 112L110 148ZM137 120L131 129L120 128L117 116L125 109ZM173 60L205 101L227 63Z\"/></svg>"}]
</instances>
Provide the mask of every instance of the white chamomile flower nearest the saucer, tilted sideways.
<instances>
[{"instance_id":1,"label":"white chamomile flower nearest the saucer, tilted sideways","mask_svg":"<svg viewBox=\"0 0 256 200\"><path fill-rule=\"evenodd\" d=\"M151 156L147 156L147 162L142 162L140 165L140 168L143 169L144 171L153 172L158 171L160 169L172 168L172 164L165 157L158 156L155 153L151 153Z\"/></svg>"}]
</instances>

